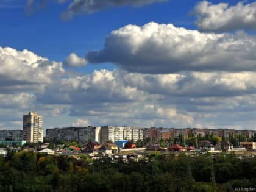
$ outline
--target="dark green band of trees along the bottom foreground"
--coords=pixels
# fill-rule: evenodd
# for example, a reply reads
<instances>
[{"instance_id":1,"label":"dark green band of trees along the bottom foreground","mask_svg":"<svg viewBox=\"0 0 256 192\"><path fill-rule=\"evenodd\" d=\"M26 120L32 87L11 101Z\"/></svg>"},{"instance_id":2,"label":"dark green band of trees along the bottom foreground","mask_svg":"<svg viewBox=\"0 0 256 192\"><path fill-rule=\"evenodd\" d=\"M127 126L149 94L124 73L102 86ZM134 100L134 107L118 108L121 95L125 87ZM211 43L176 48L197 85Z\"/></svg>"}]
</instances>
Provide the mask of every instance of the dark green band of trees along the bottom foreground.
<instances>
[{"instance_id":1,"label":"dark green band of trees along the bottom foreground","mask_svg":"<svg viewBox=\"0 0 256 192\"><path fill-rule=\"evenodd\" d=\"M13 152L0 157L0 191L234 191L256 188L256 159L161 155L138 162Z\"/></svg>"}]
</instances>

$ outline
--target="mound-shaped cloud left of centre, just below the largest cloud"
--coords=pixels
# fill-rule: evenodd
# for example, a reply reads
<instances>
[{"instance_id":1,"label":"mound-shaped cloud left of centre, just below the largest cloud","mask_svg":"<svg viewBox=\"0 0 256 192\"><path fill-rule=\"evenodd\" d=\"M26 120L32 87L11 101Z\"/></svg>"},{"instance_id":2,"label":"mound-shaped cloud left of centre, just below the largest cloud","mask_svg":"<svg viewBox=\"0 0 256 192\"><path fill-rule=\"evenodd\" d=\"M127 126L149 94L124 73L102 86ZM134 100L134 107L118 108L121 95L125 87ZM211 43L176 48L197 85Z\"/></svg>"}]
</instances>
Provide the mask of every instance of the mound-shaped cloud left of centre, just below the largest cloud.
<instances>
[{"instance_id":1,"label":"mound-shaped cloud left of centre, just below the largest cloud","mask_svg":"<svg viewBox=\"0 0 256 192\"><path fill-rule=\"evenodd\" d=\"M38 99L43 103L59 104L133 102L144 99L142 91L124 85L122 80L118 71L102 69L85 76L60 79L56 84L48 86L46 94L38 96Z\"/></svg>"}]
</instances>

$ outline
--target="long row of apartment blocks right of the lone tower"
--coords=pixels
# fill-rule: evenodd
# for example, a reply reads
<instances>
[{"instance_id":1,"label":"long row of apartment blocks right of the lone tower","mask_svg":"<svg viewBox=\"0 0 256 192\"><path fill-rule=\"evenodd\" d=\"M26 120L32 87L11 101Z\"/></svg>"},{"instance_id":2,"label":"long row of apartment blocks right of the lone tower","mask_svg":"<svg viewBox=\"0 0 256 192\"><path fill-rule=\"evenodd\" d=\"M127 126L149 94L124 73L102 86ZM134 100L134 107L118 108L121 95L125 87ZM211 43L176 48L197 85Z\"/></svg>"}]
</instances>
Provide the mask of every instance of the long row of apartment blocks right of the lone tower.
<instances>
[{"instance_id":1,"label":"long row of apartment blocks right of the lone tower","mask_svg":"<svg viewBox=\"0 0 256 192\"><path fill-rule=\"evenodd\" d=\"M233 129L199 129L199 128L140 128L123 126L102 126L102 127L66 127L46 129L46 141L97 141L98 143L113 143L118 140L134 141L143 138L152 138L155 141L166 140L170 137L188 137L188 135L204 136L215 135L219 137L229 137L229 135L253 135L253 130L233 130Z\"/></svg>"}]
</instances>

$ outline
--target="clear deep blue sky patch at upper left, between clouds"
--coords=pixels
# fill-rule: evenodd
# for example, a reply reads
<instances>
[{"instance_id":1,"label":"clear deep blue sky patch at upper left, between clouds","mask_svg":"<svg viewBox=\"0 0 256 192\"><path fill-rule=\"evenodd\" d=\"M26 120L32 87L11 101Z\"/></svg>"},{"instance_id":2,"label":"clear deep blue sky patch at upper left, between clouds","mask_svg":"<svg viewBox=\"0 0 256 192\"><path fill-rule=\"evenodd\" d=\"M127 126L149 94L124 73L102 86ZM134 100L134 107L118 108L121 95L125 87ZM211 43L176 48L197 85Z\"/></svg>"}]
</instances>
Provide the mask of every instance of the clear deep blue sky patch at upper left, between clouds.
<instances>
[{"instance_id":1,"label":"clear deep blue sky patch at upper left, between clouds","mask_svg":"<svg viewBox=\"0 0 256 192\"><path fill-rule=\"evenodd\" d=\"M34 7L37 3L38 1L34 2ZM29 49L57 61L62 61L70 52L84 56L88 50L102 48L105 37L112 30L127 24L141 26L155 21L194 28L193 16L189 13L194 7L193 1L158 2L141 7L113 7L93 14L77 15L69 21L59 19L60 13L68 7L68 2L60 5L50 1L44 8L29 15L24 12L25 4L26 1L2 2L2 46L19 50Z\"/></svg>"}]
</instances>

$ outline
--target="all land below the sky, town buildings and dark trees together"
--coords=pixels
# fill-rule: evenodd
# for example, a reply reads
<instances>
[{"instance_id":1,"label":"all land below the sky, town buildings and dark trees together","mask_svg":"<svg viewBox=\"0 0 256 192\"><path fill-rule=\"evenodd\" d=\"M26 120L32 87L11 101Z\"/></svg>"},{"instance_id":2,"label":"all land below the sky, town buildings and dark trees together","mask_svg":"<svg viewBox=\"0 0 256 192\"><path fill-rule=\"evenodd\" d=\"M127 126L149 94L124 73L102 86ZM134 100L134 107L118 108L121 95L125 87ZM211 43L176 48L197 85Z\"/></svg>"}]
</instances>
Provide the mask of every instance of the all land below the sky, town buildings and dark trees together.
<instances>
[{"instance_id":1,"label":"all land below the sky, town buildings and dark trees together","mask_svg":"<svg viewBox=\"0 0 256 192\"><path fill-rule=\"evenodd\" d=\"M254 130L88 126L43 138L29 112L23 130L0 130L0 191L159 191L152 178L161 191L255 191L255 149Z\"/></svg>"}]
</instances>

